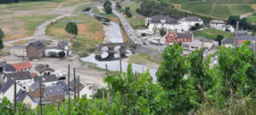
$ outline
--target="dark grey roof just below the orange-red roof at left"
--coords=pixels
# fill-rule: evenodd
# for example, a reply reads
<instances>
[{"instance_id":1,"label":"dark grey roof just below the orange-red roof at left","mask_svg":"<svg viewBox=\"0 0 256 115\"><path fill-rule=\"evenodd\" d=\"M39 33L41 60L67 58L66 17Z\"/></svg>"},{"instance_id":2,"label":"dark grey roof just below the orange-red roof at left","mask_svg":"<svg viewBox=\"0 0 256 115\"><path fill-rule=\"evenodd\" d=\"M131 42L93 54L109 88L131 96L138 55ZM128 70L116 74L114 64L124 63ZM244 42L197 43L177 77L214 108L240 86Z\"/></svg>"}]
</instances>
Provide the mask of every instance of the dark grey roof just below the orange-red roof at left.
<instances>
[{"instance_id":1,"label":"dark grey roof just below the orange-red roof at left","mask_svg":"<svg viewBox=\"0 0 256 115\"><path fill-rule=\"evenodd\" d=\"M5 73L5 77L10 80L24 80L24 79L31 79L30 72L12 72L12 73Z\"/></svg>"}]
</instances>

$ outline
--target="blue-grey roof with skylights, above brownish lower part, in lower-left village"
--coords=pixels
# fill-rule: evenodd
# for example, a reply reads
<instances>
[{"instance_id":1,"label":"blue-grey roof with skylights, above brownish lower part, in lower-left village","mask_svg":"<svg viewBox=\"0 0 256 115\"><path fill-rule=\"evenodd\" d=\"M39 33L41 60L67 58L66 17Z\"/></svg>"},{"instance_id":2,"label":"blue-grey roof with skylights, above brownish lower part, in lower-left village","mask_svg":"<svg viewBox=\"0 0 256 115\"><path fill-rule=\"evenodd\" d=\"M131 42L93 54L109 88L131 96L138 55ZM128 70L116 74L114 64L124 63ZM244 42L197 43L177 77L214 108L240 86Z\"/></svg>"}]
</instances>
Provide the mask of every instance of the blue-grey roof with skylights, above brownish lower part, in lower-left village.
<instances>
[{"instance_id":1,"label":"blue-grey roof with skylights, above brownish lower part, in lower-left village","mask_svg":"<svg viewBox=\"0 0 256 115\"><path fill-rule=\"evenodd\" d=\"M65 95L65 92L61 88L61 86L52 85L44 88L44 94L48 96L49 95Z\"/></svg>"}]
</instances>

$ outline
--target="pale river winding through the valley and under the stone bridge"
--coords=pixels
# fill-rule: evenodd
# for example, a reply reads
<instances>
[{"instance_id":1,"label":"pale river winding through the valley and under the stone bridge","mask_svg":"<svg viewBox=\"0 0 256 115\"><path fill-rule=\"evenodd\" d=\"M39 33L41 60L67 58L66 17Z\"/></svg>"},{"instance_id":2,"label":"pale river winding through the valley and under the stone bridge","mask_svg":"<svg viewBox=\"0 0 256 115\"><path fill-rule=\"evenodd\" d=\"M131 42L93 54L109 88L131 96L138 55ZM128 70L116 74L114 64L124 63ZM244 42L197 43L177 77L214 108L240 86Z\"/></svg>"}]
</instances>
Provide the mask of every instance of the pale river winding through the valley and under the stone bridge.
<instances>
[{"instance_id":1,"label":"pale river winding through the valley and under the stone bridge","mask_svg":"<svg viewBox=\"0 0 256 115\"><path fill-rule=\"evenodd\" d=\"M95 14L93 14L90 11L84 12L85 14L89 14L92 17L96 17ZM99 18L96 18L99 20ZM106 21L106 20L101 20L103 24L103 30L105 32L105 38L104 38L104 43L123 43L123 37L120 32L120 26L113 22L113 21ZM81 60L85 62L91 62L95 63L98 67L100 68L105 68L105 65L108 66L108 70L110 71L118 71L119 70L119 60L110 60L110 61L98 61L95 59L95 54L90 54L87 57L82 57ZM122 60L122 71L126 72L127 70L128 63ZM153 68L148 68L147 66L142 66L138 64L131 64L133 72L145 72L147 69L149 70L150 75L153 78L153 81L156 82L156 77L155 77L155 72L156 70Z\"/></svg>"}]
</instances>

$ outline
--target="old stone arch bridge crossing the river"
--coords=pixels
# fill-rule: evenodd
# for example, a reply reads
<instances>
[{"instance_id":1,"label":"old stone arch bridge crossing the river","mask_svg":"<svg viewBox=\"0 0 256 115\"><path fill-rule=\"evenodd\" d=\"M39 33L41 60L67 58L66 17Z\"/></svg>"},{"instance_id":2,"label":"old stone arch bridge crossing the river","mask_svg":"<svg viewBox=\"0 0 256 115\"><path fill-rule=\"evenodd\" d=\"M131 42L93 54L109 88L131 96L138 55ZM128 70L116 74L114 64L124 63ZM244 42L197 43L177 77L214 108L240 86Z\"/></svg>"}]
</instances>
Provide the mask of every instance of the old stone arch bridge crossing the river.
<instances>
[{"instance_id":1,"label":"old stone arch bridge crossing the river","mask_svg":"<svg viewBox=\"0 0 256 115\"><path fill-rule=\"evenodd\" d=\"M102 43L96 45L95 53L96 55L101 55L102 48L108 48L108 53L114 54L115 49L117 49L118 47L120 47L122 53L125 53L126 49L134 51L139 45L140 44L137 43Z\"/></svg>"}]
</instances>

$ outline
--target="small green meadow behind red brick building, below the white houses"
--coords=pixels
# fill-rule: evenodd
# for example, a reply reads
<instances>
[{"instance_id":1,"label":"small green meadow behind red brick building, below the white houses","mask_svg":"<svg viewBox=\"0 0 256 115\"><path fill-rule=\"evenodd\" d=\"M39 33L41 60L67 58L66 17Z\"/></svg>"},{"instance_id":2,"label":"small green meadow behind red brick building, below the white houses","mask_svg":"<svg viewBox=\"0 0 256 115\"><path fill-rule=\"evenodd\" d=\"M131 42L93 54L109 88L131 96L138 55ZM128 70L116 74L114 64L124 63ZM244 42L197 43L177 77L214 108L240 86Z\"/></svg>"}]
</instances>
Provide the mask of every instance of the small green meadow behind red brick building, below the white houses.
<instances>
[{"instance_id":1,"label":"small green meadow behind red brick building, below the white houses","mask_svg":"<svg viewBox=\"0 0 256 115\"><path fill-rule=\"evenodd\" d=\"M215 39L218 35L223 35L224 37L232 38L233 33L223 32L216 29L205 29L203 31L195 32L195 36L206 37L209 39Z\"/></svg>"}]
</instances>

